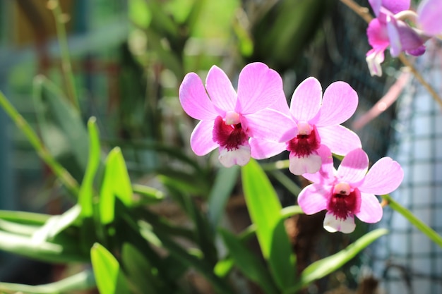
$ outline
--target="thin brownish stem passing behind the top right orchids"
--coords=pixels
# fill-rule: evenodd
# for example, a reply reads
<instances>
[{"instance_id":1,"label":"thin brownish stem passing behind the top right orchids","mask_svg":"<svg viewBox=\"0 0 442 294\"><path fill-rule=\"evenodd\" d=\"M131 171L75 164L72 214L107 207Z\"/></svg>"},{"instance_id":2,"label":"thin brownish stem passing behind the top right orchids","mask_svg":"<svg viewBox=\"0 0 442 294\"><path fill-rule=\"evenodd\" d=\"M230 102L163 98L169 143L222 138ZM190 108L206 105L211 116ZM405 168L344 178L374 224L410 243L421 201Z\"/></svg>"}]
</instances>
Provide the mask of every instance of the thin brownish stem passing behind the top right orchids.
<instances>
[{"instance_id":1,"label":"thin brownish stem passing behind the top right orchids","mask_svg":"<svg viewBox=\"0 0 442 294\"><path fill-rule=\"evenodd\" d=\"M353 0L340 0L343 4L345 4L347 7L352 9L357 15L361 16L367 23L370 23L370 21L373 19L373 17L369 13L369 8L359 6L359 4L355 3ZM425 89L431 94L431 96L436 100L436 102L439 104L439 106L442 107L442 98L437 94L437 92L434 90L431 85L429 85L428 82L422 78L422 75L417 71L417 69L413 66L413 64L405 57L404 54L400 54L399 56L400 61L404 66L407 66L410 68L410 71L413 73L414 77L419 80L419 82L425 87Z\"/></svg>"}]
</instances>

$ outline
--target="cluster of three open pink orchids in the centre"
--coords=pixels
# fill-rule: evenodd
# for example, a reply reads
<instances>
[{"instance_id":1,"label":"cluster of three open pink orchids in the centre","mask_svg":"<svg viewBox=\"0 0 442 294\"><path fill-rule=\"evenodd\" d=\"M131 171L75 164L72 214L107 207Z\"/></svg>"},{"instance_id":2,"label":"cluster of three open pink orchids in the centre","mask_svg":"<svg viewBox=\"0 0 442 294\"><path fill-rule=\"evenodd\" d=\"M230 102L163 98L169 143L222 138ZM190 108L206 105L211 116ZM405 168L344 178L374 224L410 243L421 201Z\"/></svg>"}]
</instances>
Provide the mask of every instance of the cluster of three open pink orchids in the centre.
<instances>
[{"instance_id":1,"label":"cluster of three open pink orchids in the centre","mask_svg":"<svg viewBox=\"0 0 442 294\"><path fill-rule=\"evenodd\" d=\"M385 157L366 173L369 159L361 140L340 125L356 111L357 93L346 82L333 82L322 92L316 78L307 78L287 104L280 75L264 63L250 63L239 73L237 91L217 66L205 87L196 73L184 77L181 106L201 120L191 135L191 148L205 155L218 148L224 166L289 152L289 171L313 182L302 190L299 205L306 214L327 209L324 227L350 233L354 216L373 223L382 216L374 196L392 192L401 183L400 165ZM338 171L332 154L344 156Z\"/></svg>"}]
</instances>

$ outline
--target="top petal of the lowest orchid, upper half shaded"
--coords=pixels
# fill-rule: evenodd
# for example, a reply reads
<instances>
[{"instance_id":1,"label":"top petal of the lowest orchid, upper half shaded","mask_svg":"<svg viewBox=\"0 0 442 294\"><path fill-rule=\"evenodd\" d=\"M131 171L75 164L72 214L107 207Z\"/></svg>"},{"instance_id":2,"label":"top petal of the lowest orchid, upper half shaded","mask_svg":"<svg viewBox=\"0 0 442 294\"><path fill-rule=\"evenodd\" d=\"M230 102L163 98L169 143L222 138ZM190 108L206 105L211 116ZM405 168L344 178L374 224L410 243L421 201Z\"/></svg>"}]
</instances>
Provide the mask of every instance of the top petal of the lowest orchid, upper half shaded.
<instances>
[{"instance_id":1,"label":"top petal of the lowest orchid, upper half shaded","mask_svg":"<svg viewBox=\"0 0 442 294\"><path fill-rule=\"evenodd\" d=\"M364 150L354 149L342 159L336 176L342 182L358 183L364 179L368 166L369 157Z\"/></svg>"}]
</instances>

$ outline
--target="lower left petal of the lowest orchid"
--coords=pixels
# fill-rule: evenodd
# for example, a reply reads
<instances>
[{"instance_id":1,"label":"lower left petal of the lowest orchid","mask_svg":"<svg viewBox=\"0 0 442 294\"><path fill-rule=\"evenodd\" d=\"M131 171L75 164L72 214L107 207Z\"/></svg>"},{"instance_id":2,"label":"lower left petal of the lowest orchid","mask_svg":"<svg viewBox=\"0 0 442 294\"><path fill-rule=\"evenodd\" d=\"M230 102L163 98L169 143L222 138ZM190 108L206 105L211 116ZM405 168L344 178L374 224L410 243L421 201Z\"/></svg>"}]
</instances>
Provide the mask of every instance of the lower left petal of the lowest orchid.
<instances>
[{"instance_id":1,"label":"lower left petal of the lowest orchid","mask_svg":"<svg viewBox=\"0 0 442 294\"><path fill-rule=\"evenodd\" d=\"M311 184L302 189L298 195L298 204L305 214L316 214L327 208L327 199L331 187Z\"/></svg>"}]
</instances>

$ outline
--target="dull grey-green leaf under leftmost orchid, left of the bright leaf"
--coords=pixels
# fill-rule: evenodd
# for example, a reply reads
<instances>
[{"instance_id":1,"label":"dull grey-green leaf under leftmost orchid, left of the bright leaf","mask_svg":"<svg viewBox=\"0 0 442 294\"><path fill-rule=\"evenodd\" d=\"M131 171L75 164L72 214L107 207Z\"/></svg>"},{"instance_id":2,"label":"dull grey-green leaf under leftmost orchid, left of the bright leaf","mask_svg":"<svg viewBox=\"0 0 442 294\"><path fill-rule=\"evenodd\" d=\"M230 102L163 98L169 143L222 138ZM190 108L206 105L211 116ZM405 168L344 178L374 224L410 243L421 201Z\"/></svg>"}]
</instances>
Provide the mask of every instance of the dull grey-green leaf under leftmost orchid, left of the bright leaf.
<instances>
[{"instance_id":1,"label":"dull grey-green leaf under leftmost orchid, left of the bright leaf","mask_svg":"<svg viewBox=\"0 0 442 294\"><path fill-rule=\"evenodd\" d=\"M208 216L214 232L224 212L225 204L237 183L238 176L238 166L232 166L232 168L229 169L221 168L217 172L215 183L213 184L212 190L210 190L208 200Z\"/></svg>"}]
</instances>

